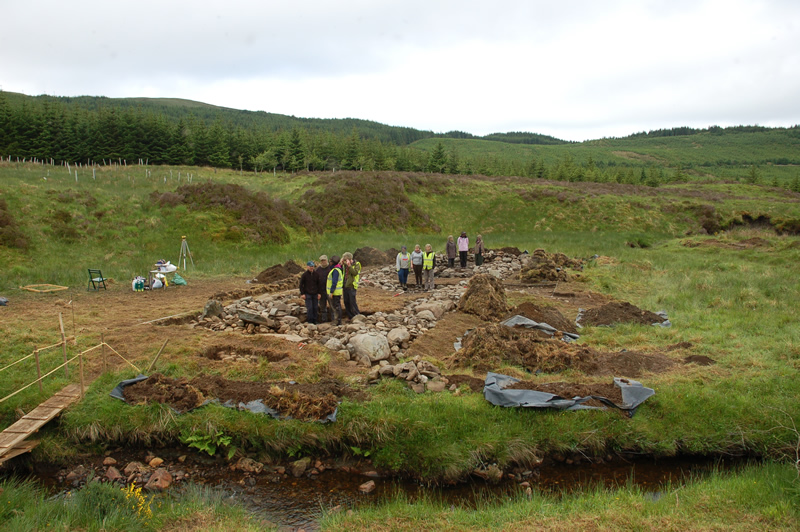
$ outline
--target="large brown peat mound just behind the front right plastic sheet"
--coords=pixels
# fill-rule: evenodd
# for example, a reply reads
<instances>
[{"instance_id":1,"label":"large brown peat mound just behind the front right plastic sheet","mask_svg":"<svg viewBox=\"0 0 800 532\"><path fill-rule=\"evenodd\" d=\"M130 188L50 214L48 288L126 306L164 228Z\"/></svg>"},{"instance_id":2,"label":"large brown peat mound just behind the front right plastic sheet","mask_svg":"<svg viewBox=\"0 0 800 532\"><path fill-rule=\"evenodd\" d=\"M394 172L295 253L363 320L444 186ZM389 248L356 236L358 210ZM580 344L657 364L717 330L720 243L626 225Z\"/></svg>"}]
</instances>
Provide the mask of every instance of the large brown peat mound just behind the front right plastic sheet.
<instances>
[{"instance_id":1,"label":"large brown peat mound just behind the front right plastic sheet","mask_svg":"<svg viewBox=\"0 0 800 532\"><path fill-rule=\"evenodd\" d=\"M478 371L496 371L504 364L513 364L530 372L558 373L573 369L586 375L638 377L662 373L675 365L660 353L598 351L564 342L543 331L504 325L478 327L464 337L461 345L461 350L448 359L449 364Z\"/></svg>"}]
</instances>

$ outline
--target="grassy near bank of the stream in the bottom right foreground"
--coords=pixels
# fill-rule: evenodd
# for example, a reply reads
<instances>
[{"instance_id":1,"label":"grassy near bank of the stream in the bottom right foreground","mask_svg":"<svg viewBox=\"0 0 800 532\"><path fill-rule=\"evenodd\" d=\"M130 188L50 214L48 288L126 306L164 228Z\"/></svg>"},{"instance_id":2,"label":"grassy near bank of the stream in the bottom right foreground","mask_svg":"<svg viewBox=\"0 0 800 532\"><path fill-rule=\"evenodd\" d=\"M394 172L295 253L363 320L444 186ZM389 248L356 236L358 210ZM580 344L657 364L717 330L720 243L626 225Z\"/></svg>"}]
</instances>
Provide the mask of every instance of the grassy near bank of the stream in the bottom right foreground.
<instances>
[{"instance_id":1,"label":"grassy near bank of the stream in the bottom right foreground","mask_svg":"<svg viewBox=\"0 0 800 532\"><path fill-rule=\"evenodd\" d=\"M522 490L521 490L522 492ZM797 471L782 464L716 473L652 493L588 488L561 496L532 493L477 508L430 499L337 513L323 530L796 530Z\"/></svg>"}]
</instances>

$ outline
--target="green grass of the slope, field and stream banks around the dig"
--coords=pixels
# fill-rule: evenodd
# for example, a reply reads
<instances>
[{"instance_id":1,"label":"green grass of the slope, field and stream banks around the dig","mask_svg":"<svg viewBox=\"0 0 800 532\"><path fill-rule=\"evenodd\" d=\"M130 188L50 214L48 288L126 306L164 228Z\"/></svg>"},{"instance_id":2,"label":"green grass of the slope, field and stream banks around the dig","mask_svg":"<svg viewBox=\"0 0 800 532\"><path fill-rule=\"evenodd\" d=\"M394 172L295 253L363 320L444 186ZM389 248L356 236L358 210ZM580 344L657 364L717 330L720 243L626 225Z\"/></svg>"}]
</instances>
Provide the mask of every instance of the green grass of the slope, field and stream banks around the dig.
<instances>
[{"instance_id":1,"label":"green grass of the slope, field and stream banks around the dig","mask_svg":"<svg viewBox=\"0 0 800 532\"><path fill-rule=\"evenodd\" d=\"M712 156L724 155L706 155ZM768 158L769 152L759 156ZM252 276L278 262L318 256L320 250L430 242L441 251L448 234L465 230L483 234L490 248L544 248L573 257L611 257L588 263L582 276L587 288L640 308L666 310L673 322L669 329L590 328L582 332L586 345L647 352L689 342L693 353L717 363L648 376L646 385L656 395L631 419L609 412L499 409L479 394L418 396L396 383L384 383L370 390L369 401L345 401L339 422L329 426L242 416L214 406L180 417L166 416L159 406L131 410L107 400L107 388L129 372L107 374L86 400L63 416L58 430L48 432L38 456L53 460L69 456L76 442L92 446L101 441L103 445L176 441L185 430L222 430L237 448L273 457L347 454L356 447L369 450L380 467L429 479L460 478L478 462L506 466L553 452L747 454L766 458L766 465L676 489L660 501L623 489L585 493L566 501L535 497L493 503L475 513L400 500L354 516L332 516L326 526L362 529L391 515L393 524L386 529L416 529L420 519L464 530L495 522L503 528L537 526L533 516L542 517L545 527L551 528L570 524L650 528L654 523L667 529L694 524L705 529L796 527L800 243L797 236L777 234L773 226L791 228L800 220L800 195L743 183L698 181L651 188L344 172L337 173L338 179L351 182L358 194L342 198L342 208L363 208L366 213L367 206L388 209L402 199L418 209L414 212L429 216L439 231L409 229L413 221L392 231L381 225L382 218L364 214L362 218L374 220L373 225L333 230L289 225L288 243L254 243L248 235L254 234L256 225L222 207L168 206L153 199L153 193L186 184L187 173L194 183L238 184L292 205L310 188L330 190L313 175L130 167L104 168L94 177L91 170L79 169L76 182L74 173L65 168L3 163L0 198L26 243L0 246L4 272L0 295L14 296L18 286L33 283L82 287L89 266L101 266L106 275L127 282L155 259L177 260L182 235L194 254L195 275L214 278ZM401 183L405 195L381 199L384 189L379 184L387 180ZM309 214L313 218L315 213ZM715 234L706 234L708 228ZM744 245L751 241L758 245ZM43 342L32 331L4 333L2 365ZM166 373L188 376L196 369L171 365ZM570 376L568 372L559 378ZM8 380L4 377L4 386L15 379L13 373ZM12 418L13 408L0 405L0 416ZM726 514L729 508L738 513Z\"/></svg>"}]
</instances>

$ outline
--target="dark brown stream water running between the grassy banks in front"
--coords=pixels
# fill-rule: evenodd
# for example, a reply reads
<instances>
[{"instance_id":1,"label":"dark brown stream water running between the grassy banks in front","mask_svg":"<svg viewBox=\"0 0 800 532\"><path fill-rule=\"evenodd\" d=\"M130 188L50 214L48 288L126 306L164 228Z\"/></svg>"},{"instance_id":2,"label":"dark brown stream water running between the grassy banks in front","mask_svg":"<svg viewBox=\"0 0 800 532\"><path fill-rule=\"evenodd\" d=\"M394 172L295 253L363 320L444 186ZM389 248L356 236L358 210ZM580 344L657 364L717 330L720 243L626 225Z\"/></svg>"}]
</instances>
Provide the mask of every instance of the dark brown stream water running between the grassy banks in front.
<instances>
[{"instance_id":1,"label":"dark brown stream water running between the grassy banks in front","mask_svg":"<svg viewBox=\"0 0 800 532\"><path fill-rule=\"evenodd\" d=\"M159 452L162 458L172 463L179 454L179 450ZM133 454L117 458L121 463L141 460L141 457ZM102 458L98 460L102 462ZM660 490L667 484L680 485L688 478L702 476L714 469L730 469L743 463L744 460L721 461L704 457L615 457L601 463L553 462L526 471L515 479L506 477L498 483L490 483L475 477L468 482L447 487L427 487L408 480L370 479L338 469L328 469L319 475L301 478L266 472L245 475L231 471L224 461L198 454L189 454L183 466L192 482L222 491L225 498L244 504L267 521L286 530L314 530L317 528L317 519L325 511L346 511L363 504L380 504L398 494L409 501L427 497L448 505L469 508L475 507L478 502L501 502L517 497L528 487L520 483L527 482L532 491L555 496L591 486L613 488L630 484L658 498ZM102 471L102 467L98 468L97 465L95 469ZM59 480L57 468L36 464L33 466L33 476L53 491L71 489L71 486L65 486L63 480ZM361 493L359 486L369 480L374 480L375 490L369 494Z\"/></svg>"}]
</instances>

